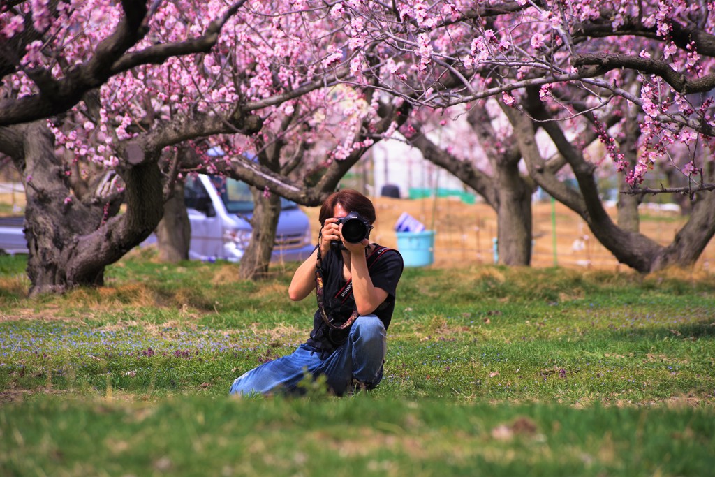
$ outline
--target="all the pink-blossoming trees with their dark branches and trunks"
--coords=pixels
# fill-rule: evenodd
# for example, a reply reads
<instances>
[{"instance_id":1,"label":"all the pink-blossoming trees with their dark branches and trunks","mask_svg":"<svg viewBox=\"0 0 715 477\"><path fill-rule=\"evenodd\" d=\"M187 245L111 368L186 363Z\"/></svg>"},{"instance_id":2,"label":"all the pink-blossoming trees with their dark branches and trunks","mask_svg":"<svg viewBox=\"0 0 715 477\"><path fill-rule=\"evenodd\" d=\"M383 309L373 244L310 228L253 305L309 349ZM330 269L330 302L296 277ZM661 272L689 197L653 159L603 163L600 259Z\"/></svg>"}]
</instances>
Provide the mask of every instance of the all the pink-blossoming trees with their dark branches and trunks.
<instances>
[{"instance_id":1,"label":"all the pink-blossoming trees with their dark branches and trunks","mask_svg":"<svg viewBox=\"0 0 715 477\"><path fill-rule=\"evenodd\" d=\"M184 227L172 197L194 172L255 187L241 274L260 277L275 196L319 204L390 137L495 209L506 265L531 260L536 186L628 267L690 265L715 233L712 9L651 0L8 2L0 153L26 190L32 293L99 285L104 267L162 217L168 230ZM669 182L646 187L654 170ZM616 174L613 222L597 178ZM690 218L662 246L638 231L637 211L645 194L665 192ZM159 237L178 239L167 258L184 256L185 231Z\"/></svg>"}]
</instances>

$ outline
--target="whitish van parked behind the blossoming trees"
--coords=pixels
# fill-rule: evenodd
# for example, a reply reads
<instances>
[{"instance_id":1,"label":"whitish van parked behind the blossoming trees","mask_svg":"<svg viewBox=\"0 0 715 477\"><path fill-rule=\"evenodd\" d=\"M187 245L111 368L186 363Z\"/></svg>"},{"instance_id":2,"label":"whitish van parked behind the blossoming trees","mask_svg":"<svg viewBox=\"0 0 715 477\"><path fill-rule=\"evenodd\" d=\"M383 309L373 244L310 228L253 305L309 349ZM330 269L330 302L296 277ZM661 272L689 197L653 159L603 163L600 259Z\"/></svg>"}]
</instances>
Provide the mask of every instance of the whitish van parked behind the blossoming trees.
<instances>
[{"instance_id":1,"label":"whitish van parked behind the blossoming trees","mask_svg":"<svg viewBox=\"0 0 715 477\"><path fill-rule=\"evenodd\" d=\"M189 259L241 260L251 238L249 186L227 177L192 174L185 181L184 202L191 222ZM308 217L295 202L281 197L280 203L271 260L305 260L315 248Z\"/></svg>"}]
</instances>

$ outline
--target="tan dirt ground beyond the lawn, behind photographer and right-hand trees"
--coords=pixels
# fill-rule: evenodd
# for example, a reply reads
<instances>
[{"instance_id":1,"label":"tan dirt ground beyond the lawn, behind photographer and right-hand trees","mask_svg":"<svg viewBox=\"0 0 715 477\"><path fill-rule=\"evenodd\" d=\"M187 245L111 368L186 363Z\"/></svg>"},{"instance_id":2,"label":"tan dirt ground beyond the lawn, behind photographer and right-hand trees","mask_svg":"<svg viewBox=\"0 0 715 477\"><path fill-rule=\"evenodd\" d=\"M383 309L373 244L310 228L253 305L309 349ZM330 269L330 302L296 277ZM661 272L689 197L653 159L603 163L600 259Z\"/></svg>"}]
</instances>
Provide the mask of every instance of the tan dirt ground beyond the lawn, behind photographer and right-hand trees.
<instances>
[{"instance_id":1,"label":"tan dirt ground beyond the lawn, behind photographer and right-hand trees","mask_svg":"<svg viewBox=\"0 0 715 477\"><path fill-rule=\"evenodd\" d=\"M371 197L378 212L370 238L388 247L397 247L394 225L403 212L423 222L428 230L435 230L433 267L470 267L494 262L493 240L496 237L496 214L485 204L468 205L453 197L406 200L390 197ZM305 208L310 216L313 235L317 241L318 207ZM608 209L616 217L615 207ZM556 253L553 247L551 202L533 205L533 260L534 267L599 268L628 270L619 265L588 230L581 217L561 204L554 207L556 217ZM668 244L685 220L676 212L645 210L641 212L641 232L662 244ZM398 247L399 248L399 247ZM706 248L696 270L710 271L715 261L715 243Z\"/></svg>"}]
</instances>

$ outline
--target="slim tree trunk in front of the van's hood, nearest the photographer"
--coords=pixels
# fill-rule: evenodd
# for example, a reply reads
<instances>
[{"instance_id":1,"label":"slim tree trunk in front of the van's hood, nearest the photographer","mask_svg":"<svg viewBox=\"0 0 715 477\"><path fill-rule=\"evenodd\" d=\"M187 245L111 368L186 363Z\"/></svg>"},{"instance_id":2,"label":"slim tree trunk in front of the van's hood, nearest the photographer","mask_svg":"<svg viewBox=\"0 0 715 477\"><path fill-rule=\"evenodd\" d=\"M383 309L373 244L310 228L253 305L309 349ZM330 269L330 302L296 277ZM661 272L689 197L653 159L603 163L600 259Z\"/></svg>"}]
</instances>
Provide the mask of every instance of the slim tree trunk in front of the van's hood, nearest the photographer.
<instances>
[{"instance_id":1,"label":"slim tree trunk in front of the van's hood, nearest the photographer","mask_svg":"<svg viewBox=\"0 0 715 477\"><path fill-rule=\"evenodd\" d=\"M241 258L238 275L242 280L257 280L268 275L268 266L275 243L275 231L280 216L280 197L263 195L262 190L252 187L253 216L251 217L251 241Z\"/></svg>"}]
</instances>

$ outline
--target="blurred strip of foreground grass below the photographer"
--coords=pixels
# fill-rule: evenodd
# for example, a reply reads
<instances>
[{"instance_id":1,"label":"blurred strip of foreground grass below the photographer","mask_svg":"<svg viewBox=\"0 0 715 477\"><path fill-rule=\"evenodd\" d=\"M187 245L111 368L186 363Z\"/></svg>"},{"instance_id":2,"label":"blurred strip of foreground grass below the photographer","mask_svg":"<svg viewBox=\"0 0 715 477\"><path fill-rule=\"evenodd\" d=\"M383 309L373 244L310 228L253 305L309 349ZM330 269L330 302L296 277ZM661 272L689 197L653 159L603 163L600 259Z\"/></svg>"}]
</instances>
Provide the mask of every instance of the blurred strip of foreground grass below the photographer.
<instances>
[{"instance_id":1,"label":"blurred strip of foreground grass below the photographer","mask_svg":"<svg viewBox=\"0 0 715 477\"><path fill-rule=\"evenodd\" d=\"M12 413L10 413L12 411ZM711 408L439 400L43 400L0 408L4 475L706 476Z\"/></svg>"}]
</instances>

